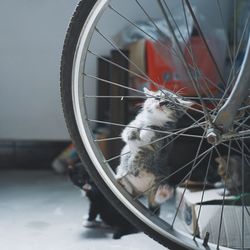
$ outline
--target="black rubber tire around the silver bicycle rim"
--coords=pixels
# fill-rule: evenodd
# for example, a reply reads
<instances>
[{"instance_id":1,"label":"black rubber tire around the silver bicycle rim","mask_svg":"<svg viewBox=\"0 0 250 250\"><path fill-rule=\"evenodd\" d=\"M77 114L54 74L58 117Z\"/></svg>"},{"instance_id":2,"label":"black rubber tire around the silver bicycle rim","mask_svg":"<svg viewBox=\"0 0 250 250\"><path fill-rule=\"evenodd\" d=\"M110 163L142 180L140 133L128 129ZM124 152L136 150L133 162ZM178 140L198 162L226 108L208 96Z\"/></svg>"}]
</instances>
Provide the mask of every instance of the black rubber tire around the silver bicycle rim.
<instances>
[{"instance_id":1,"label":"black rubber tire around the silver bicycle rim","mask_svg":"<svg viewBox=\"0 0 250 250\"><path fill-rule=\"evenodd\" d=\"M77 46L77 42L79 39L80 32L82 27L86 21L88 14L91 9L95 5L97 0L82 0L79 2L75 13L71 19L69 24L69 28L67 31L67 35L64 42L62 58L61 58L61 73L60 73L60 82L61 82L61 101L63 106L63 112L66 120L66 124L72 138L73 143L75 144L79 156L86 166L90 176L95 181L96 185L103 192L105 197L113 204L117 210L124 215L132 224L141 229L147 235L149 235L154 240L158 241L162 245L178 250L178 249L201 249L195 244L192 247L188 247L185 244L185 237L182 239L178 239L179 242L174 242L173 240L167 239L161 234L154 231L148 225L146 225L143 221L137 218L132 212L130 212L125 205L116 198L116 196L112 193L112 191L107 187L103 179L98 174L95 166L90 160L88 153L84 147L84 144L81 140L81 136L79 135L78 127L76 124L74 109L73 109L73 101L72 101L72 66L74 54ZM179 236L178 236L179 237ZM205 248L203 248L205 249Z\"/></svg>"}]
</instances>

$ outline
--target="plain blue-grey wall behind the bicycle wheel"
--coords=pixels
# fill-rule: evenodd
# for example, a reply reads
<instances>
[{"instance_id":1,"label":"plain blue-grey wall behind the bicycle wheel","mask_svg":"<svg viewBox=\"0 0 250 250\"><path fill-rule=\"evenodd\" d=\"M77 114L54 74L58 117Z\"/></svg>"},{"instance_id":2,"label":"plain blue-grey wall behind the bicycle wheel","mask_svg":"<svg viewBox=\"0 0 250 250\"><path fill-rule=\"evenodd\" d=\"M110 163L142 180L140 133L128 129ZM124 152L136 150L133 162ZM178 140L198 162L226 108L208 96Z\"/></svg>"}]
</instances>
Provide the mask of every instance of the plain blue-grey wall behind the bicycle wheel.
<instances>
[{"instance_id":1,"label":"plain blue-grey wall behind the bicycle wheel","mask_svg":"<svg viewBox=\"0 0 250 250\"><path fill-rule=\"evenodd\" d=\"M135 12L138 20L143 14L126 8L131 1L116 0L115 5L124 5L124 13ZM1 0L0 139L69 138L60 104L59 67L67 25L77 2ZM224 1L227 6L229 2ZM211 14L210 1L203 4ZM152 0L147 0L147 8L151 7ZM117 32L112 20L103 26ZM105 51L102 46L98 44L100 51Z\"/></svg>"}]
</instances>

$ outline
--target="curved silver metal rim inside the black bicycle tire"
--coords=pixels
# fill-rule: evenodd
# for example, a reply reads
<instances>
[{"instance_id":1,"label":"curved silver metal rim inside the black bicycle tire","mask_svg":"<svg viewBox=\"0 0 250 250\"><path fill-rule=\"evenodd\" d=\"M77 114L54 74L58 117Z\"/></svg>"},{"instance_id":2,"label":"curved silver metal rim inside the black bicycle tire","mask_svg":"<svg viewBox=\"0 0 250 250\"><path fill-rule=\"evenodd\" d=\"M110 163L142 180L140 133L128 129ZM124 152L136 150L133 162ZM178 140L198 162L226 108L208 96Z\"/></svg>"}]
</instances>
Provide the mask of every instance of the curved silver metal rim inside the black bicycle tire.
<instances>
[{"instance_id":1,"label":"curved silver metal rim inside the black bicycle tire","mask_svg":"<svg viewBox=\"0 0 250 250\"><path fill-rule=\"evenodd\" d=\"M91 40L91 36L93 33L93 29L95 27L95 24L98 22L99 17L102 15L103 11L109 4L109 0L99 0L96 2L94 8L92 9L91 13L88 16L87 21L85 22L85 25L82 28L82 31L80 33L80 37L78 40L75 56L74 56L74 62L73 62L73 68L72 68L72 89L73 89L73 106L74 106L74 113L76 122L78 125L78 129L82 138L82 141L84 143L84 146L88 152L89 157L91 158L93 164L95 165L97 171L99 172L102 179L105 181L107 186L112 190L112 192L116 195L116 197L130 210L135 214L138 218L140 218L141 221L143 221L145 224L147 224L150 228L154 229L159 234L163 235L164 237L167 237L168 239L172 240L173 242L177 242L180 245L183 245L184 247L190 247L190 248L197 248L199 249L199 246L202 246L202 241L199 239L196 239L197 242L194 242L192 240L192 237L189 235L185 235L185 233L182 232L175 232L174 230L170 230L169 228L162 228L159 225L157 225L155 222L152 222L148 217L145 216L145 214L142 211L139 211L141 209L138 207L138 204L134 203L134 201L129 197L126 193L124 193L119 186L115 184L115 178L112 176L112 173L109 169L106 169L106 165L104 166L103 163L100 163L100 160L102 158L102 155L96 148L96 144L93 142L93 134L88 126L87 122L87 115L86 115L86 107L85 103L82 104L82 96L83 95L83 89L80 88L81 82L83 81L83 74L81 72L81 69L84 68L85 64L85 55L87 50L87 45L89 44ZM88 138L86 140L86 138ZM160 222L160 220L159 220ZM159 223L160 224L160 223ZM183 237L184 236L184 237ZM184 241L183 241L184 240ZM197 246L197 243L199 243L199 246ZM210 244L210 246L213 246ZM216 247L214 245L214 247ZM227 248L221 248L221 249L227 249Z\"/></svg>"}]
</instances>

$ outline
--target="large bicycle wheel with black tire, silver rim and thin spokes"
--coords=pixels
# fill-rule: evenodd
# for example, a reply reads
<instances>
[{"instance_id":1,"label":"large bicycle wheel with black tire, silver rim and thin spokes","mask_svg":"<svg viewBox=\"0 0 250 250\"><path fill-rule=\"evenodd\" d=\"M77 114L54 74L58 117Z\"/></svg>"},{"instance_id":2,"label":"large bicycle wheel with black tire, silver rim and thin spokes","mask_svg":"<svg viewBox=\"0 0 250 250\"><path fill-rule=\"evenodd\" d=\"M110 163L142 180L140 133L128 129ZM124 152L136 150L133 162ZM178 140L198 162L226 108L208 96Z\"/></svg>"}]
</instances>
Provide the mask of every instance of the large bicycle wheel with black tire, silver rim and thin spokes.
<instances>
[{"instance_id":1,"label":"large bicycle wheel with black tire, silver rim and thin spokes","mask_svg":"<svg viewBox=\"0 0 250 250\"><path fill-rule=\"evenodd\" d=\"M250 191L246 181L250 167L248 101L238 109L223 139L215 142L208 133L245 65L242 57L249 35L249 17L239 14L244 8L238 5L233 0L203 3L159 0L154 4L138 0L85 0L79 3L65 39L61 60L62 104L84 165L104 195L131 223L171 249L248 246L250 220L245 198ZM230 18L232 25L228 25ZM144 57L138 61L134 51L145 50L148 60ZM159 65L164 65L162 71ZM166 137L170 140L160 151L171 145L168 159L171 167L164 181L174 187L185 184L180 201L176 205L174 199L165 202L160 214L148 208L143 192L140 195L128 192L115 172L124 146L122 130L136 116L138 104L147 99L142 91L145 85L155 91L170 90L194 103L188 111L175 103L184 114L176 127L161 137L162 141ZM159 131L151 128L151 132ZM230 176L234 159L240 159L240 163L236 162L243 166L239 168L236 164L235 169L240 169L236 171L237 180ZM221 171L217 171L217 163ZM213 186L221 178L224 178L221 205L217 217L214 216L218 230L203 229L197 236L200 221L207 216L203 212L205 188L208 182ZM178 219L190 180L202 183L193 235L184 230ZM227 211L226 189L230 188L234 196L240 197L238 224L242 232L235 234L235 242L240 241L240 246L222 239L227 226L223 219ZM206 209L210 211L209 207Z\"/></svg>"}]
</instances>

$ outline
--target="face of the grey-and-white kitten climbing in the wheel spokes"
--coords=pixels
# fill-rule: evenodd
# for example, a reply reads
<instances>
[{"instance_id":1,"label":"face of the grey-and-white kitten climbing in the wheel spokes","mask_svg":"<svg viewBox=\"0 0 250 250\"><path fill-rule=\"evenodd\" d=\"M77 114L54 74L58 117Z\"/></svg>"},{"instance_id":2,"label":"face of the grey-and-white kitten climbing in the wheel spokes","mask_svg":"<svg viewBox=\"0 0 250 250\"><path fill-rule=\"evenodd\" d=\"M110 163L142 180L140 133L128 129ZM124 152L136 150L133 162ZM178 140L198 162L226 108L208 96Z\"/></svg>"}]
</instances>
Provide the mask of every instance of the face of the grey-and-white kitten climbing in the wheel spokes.
<instances>
[{"instance_id":1,"label":"face of the grey-and-white kitten climbing in the wheel spokes","mask_svg":"<svg viewBox=\"0 0 250 250\"><path fill-rule=\"evenodd\" d=\"M152 119L175 121L184 114L186 109L193 105L193 102L185 101L166 90L153 92L144 88L144 92L148 98L144 102L143 110Z\"/></svg>"}]
</instances>

